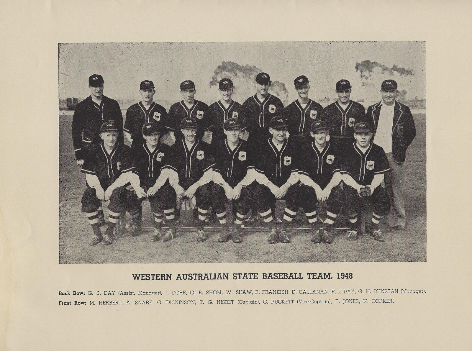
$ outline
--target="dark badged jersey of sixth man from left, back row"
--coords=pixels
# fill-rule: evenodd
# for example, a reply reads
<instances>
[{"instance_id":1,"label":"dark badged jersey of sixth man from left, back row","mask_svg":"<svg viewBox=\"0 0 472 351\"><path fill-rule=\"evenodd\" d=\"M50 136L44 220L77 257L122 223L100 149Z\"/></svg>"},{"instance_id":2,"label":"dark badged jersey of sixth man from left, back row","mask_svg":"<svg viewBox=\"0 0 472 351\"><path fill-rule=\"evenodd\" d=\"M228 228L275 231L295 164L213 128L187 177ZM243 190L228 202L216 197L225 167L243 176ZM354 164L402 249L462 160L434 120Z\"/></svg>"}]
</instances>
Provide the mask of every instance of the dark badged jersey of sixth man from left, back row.
<instances>
[{"instance_id":1,"label":"dark badged jersey of sixth man from left, back row","mask_svg":"<svg viewBox=\"0 0 472 351\"><path fill-rule=\"evenodd\" d=\"M288 119L288 133L290 135L310 134L310 126L317 118L320 118L323 107L316 101L308 100L305 108L300 101L295 100L288 105L283 115Z\"/></svg>"}]
</instances>

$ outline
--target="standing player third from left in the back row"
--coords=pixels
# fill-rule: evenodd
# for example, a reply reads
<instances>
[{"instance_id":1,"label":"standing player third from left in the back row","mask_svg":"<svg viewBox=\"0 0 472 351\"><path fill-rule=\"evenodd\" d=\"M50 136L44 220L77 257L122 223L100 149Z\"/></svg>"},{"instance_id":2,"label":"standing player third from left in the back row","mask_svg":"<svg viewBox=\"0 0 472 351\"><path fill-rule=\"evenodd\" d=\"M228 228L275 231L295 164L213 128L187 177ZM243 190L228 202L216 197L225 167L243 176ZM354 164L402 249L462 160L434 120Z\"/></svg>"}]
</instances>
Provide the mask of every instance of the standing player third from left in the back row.
<instances>
[{"instance_id":1,"label":"standing player third from left in the back row","mask_svg":"<svg viewBox=\"0 0 472 351\"><path fill-rule=\"evenodd\" d=\"M169 109L168 121L165 127L173 138L177 141L182 140L184 136L180 131L180 123L185 118L194 118L198 124L199 139L207 140L210 134L211 121L208 116L208 105L202 101L195 100L195 84L191 80L180 83L180 93L183 100L176 102Z\"/></svg>"}]
</instances>

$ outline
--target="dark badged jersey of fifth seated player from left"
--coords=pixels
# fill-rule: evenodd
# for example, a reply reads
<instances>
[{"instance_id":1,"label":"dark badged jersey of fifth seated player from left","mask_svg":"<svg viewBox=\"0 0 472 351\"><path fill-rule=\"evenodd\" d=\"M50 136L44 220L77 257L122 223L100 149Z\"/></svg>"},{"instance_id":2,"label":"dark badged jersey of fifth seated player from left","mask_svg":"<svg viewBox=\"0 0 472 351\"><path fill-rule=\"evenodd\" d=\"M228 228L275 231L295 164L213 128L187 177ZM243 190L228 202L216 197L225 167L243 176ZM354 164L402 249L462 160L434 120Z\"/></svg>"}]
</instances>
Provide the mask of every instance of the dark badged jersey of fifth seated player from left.
<instances>
[{"instance_id":1,"label":"dark badged jersey of fifth seated player from left","mask_svg":"<svg viewBox=\"0 0 472 351\"><path fill-rule=\"evenodd\" d=\"M255 156L256 171L266 175L276 186L281 186L293 172L298 171L299 153L292 139L286 139L279 151L272 138L267 138L261 142L258 155Z\"/></svg>"}]
</instances>

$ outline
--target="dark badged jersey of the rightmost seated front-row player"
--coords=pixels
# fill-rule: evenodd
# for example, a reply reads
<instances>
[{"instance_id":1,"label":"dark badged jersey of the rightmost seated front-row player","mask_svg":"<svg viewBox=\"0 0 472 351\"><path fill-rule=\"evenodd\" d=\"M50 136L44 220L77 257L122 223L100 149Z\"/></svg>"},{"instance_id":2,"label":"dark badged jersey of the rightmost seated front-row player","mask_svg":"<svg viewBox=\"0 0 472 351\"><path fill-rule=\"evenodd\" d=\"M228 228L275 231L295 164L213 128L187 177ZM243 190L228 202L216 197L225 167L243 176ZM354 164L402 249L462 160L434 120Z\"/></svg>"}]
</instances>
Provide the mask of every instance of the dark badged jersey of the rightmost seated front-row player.
<instances>
[{"instance_id":1,"label":"dark badged jersey of the rightmost seated front-row player","mask_svg":"<svg viewBox=\"0 0 472 351\"><path fill-rule=\"evenodd\" d=\"M383 174L389 169L384 150L372 142L365 153L357 147L356 142L343 151L341 174L351 175L357 184L370 185L374 175Z\"/></svg>"}]
</instances>

